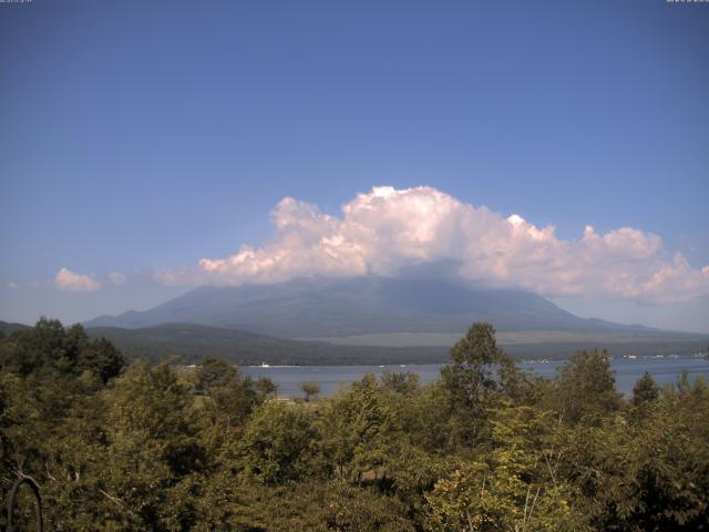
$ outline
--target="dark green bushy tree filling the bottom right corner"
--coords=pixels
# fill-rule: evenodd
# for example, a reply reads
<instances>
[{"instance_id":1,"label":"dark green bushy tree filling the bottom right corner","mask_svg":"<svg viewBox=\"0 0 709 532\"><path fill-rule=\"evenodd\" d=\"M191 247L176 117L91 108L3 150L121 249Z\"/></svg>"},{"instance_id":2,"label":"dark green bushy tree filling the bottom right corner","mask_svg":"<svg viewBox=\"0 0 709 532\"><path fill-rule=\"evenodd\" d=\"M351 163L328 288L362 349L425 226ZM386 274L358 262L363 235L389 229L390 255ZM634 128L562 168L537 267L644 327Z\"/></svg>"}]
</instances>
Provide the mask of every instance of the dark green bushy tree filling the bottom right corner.
<instances>
[{"instance_id":1,"label":"dark green bushy tree filling the bottom right corner","mask_svg":"<svg viewBox=\"0 0 709 532\"><path fill-rule=\"evenodd\" d=\"M571 429L561 472L577 487L575 507L594 530L709 526L709 448L677 413L668 401L644 423L617 416Z\"/></svg>"}]
</instances>

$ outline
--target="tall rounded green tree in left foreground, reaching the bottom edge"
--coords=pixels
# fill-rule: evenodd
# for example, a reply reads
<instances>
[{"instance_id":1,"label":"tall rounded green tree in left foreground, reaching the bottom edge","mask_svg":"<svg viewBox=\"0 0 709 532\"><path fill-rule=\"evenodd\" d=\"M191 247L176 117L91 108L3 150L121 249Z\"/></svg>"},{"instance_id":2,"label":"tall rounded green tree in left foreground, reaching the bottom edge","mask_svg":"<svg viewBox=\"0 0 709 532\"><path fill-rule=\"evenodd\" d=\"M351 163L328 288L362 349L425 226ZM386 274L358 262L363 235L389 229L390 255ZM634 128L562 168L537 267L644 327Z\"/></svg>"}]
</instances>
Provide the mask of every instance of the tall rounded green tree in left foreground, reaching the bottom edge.
<instances>
[{"instance_id":1,"label":"tall rounded green tree in left foreground, reaching the bottom edge","mask_svg":"<svg viewBox=\"0 0 709 532\"><path fill-rule=\"evenodd\" d=\"M188 389L168 365L135 362L106 392L106 405L102 491L110 519L133 530L174 524L166 494L205 459Z\"/></svg>"}]
</instances>

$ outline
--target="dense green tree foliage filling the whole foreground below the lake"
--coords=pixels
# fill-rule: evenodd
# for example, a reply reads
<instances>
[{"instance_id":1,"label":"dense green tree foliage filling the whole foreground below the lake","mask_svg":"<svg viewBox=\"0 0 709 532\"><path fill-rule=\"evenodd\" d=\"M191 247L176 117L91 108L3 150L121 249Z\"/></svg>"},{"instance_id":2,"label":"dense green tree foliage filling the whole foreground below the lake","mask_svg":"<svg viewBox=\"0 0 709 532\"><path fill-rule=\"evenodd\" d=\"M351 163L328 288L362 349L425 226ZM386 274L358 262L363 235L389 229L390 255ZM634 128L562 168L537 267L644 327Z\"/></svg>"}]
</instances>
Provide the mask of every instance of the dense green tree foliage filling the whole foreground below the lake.
<instances>
[{"instance_id":1,"label":"dense green tree foliage filling the whole foreground below the lake","mask_svg":"<svg viewBox=\"0 0 709 532\"><path fill-rule=\"evenodd\" d=\"M703 379L626 400L597 350L531 378L485 324L452 358L282 401L41 320L0 338L2 493L33 478L50 530L709 530Z\"/></svg>"}]
</instances>

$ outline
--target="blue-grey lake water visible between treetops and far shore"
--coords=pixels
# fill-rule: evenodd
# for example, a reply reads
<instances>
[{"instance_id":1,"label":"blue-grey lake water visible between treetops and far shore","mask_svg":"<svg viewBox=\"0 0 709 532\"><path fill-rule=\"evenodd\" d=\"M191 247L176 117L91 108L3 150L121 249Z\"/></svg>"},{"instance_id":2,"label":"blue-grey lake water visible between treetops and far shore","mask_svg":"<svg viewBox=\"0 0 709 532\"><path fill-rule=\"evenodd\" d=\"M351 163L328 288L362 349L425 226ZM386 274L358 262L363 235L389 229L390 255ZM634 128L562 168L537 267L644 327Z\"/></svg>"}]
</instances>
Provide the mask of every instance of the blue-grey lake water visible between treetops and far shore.
<instances>
[{"instance_id":1,"label":"blue-grey lake water visible between treetops and far shore","mask_svg":"<svg viewBox=\"0 0 709 532\"><path fill-rule=\"evenodd\" d=\"M552 378L556 369L563 366L563 360L548 362L517 362L524 370L532 371L541 377ZM403 366L246 366L240 371L254 378L268 377L278 386L278 397L300 397L300 386L304 382L316 382L320 386L320 395L329 396L339 388L360 380L367 374L381 376L384 369L392 372L411 371L419 376L422 385L439 378L441 364L412 364ZM610 367L615 372L616 388L623 393L630 395L635 382L649 371L660 385L669 385L677 381L677 377L687 370L691 379L702 375L709 379L709 360L705 358L638 358L614 359Z\"/></svg>"}]
</instances>

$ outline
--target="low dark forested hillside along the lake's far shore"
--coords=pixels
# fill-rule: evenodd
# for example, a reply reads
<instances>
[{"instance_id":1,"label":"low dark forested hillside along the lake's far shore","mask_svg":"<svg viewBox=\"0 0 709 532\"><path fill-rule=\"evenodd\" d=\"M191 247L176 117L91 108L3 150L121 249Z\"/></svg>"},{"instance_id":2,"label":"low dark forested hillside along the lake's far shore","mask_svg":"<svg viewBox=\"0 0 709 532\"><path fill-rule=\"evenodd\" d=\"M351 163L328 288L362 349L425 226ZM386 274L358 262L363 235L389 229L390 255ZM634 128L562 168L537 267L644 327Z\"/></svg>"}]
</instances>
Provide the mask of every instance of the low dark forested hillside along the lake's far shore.
<instances>
[{"instance_id":1,"label":"low dark forested hillside along the lake's far shore","mask_svg":"<svg viewBox=\"0 0 709 532\"><path fill-rule=\"evenodd\" d=\"M274 338L234 329L199 325L169 324L143 329L114 327L88 328L89 336L113 341L127 358L164 360L169 357L191 364L206 355L225 358L238 365L381 365L431 364L450 361L448 346L376 347L335 345L323 341L298 341ZM522 338L525 338L524 336ZM517 359L563 359L578 349L607 348L613 356L690 355L706 348L706 339L668 337L654 341L607 337L599 341L501 342Z\"/></svg>"}]
</instances>

